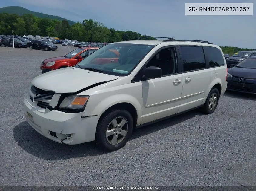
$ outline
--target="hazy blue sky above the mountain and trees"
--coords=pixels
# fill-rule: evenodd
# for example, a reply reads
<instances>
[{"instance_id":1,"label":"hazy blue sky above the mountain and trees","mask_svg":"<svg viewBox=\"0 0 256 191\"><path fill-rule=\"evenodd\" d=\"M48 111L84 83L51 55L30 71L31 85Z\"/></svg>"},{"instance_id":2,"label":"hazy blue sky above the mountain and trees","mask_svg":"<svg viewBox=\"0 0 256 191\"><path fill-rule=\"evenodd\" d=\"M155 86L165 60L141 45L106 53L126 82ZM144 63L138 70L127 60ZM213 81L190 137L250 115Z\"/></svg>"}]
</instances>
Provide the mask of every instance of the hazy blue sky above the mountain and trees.
<instances>
[{"instance_id":1,"label":"hazy blue sky above the mountain and trees","mask_svg":"<svg viewBox=\"0 0 256 191\"><path fill-rule=\"evenodd\" d=\"M158 2L158 3L156 3ZM8 0L2 7L21 6L71 21L93 19L115 30L175 39L208 40L219 46L256 49L254 16L185 16L185 3L254 3L256 0Z\"/></svg>"}]
</instances>

